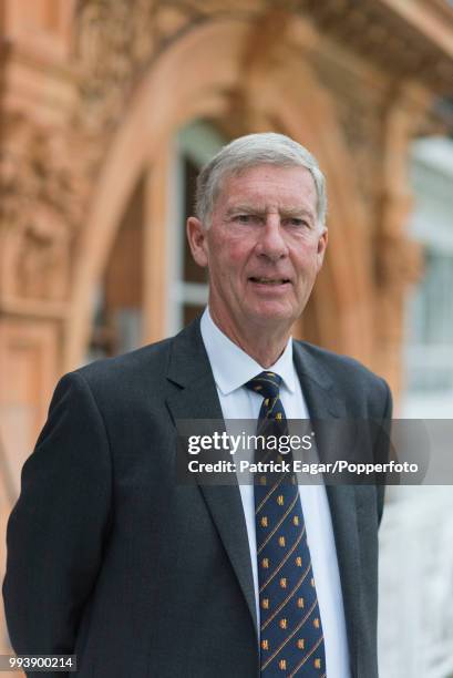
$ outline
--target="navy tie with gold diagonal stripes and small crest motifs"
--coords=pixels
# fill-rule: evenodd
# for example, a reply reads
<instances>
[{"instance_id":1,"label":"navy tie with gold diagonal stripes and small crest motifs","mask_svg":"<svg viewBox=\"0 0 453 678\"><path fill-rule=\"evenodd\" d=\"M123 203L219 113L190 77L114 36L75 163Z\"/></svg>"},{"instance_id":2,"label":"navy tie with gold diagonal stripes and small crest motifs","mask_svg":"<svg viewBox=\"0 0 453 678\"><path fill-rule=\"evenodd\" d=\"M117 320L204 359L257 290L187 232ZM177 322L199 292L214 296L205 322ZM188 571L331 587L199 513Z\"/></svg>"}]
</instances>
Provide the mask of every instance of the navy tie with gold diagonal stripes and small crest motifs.
<instances>
[{"instance_id":1,"label":"navy tie with gold diagonal stripes and small crest motifs","mask_svg":"<svg viewBox=\"0 0 453 678\"><path fill-rule=\"evenodd\" d=\"M258 434L288 433L280 401L281 377L261 372L245 386L262 396ZM267 438L266 438L267 436ZM270 445L268 445L269 448ZM278 461L277 452L257 459ZM292 456L286 454L286 462ZM264 678L326 678L326 655L318 597L296 475L258 473L255 522L260 609L260 675Z\"/></svg>"}]
</instances>

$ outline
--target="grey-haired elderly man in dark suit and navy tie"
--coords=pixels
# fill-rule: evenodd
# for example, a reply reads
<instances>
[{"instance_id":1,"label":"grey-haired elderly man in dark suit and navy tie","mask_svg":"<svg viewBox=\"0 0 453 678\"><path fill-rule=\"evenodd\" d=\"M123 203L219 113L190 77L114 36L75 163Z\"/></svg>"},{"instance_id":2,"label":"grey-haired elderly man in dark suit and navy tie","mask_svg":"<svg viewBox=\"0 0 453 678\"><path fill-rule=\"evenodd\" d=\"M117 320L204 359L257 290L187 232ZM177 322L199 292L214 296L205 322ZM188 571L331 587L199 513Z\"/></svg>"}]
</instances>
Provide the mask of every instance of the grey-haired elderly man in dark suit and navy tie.
<instances>
[{"instance_id":1,"label":"grey-haired elderly man in dark suit and navy tie","mask_svg":"<svg viewBox=\"0 0 453 678\"><path fill-rule=\"evenodd\" d=\"M284 135L204 167L187 235L208 308L65 376L24 465L3 587L17 653L76 654L83 678L377 678L381 489L175 480L178 420L390 418L382 379L290 337L325 217L318 164Z\"/></svg>"}]
</instances>

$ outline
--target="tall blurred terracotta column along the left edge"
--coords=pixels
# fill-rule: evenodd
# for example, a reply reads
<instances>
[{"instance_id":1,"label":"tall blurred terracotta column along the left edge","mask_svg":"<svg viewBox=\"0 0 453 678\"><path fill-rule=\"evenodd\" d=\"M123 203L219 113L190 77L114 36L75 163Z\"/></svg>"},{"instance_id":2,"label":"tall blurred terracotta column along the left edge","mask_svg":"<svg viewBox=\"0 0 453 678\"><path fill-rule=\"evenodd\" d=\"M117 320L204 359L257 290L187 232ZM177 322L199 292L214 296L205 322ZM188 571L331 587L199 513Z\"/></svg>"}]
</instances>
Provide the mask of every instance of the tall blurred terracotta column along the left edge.
<instances>
[{"instance_id":1,"label":"tall blurred terracotta column along the left edge","mask_svg":"<svg viewBox=\"0 0 453 678\"><path fill-rule=\"evenodd\" d=\"M66 9L42 0L32 12L27 2L4 8L0 434L16 492L60 373L71 257L82 214L78 152L69 133L76 88L65 65Z\"/></svg>"}]
</instances>

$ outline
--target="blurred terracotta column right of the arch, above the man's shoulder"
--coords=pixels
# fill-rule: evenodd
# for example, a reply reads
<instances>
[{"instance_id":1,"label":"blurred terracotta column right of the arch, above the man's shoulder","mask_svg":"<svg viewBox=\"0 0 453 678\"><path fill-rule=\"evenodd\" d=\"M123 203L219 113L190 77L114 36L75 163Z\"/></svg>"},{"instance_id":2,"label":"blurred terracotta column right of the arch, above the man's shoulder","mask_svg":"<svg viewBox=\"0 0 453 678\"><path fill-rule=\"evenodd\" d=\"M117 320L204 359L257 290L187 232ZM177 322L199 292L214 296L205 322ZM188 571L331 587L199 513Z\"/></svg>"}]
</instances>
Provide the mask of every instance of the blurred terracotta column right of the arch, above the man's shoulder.
<instances>
[{"instance_id":1,"label":"blurred terracotta column right of the arch, above the man's shoulder","mask_svg":"<svg viewBox=\"0 0 453 678\"><path fill-rule=\"evenodd\" d=\"M383 129L382 194L374 240L375 370L397 396L402 386L402 347L408 286L422 274L420 246L405 234L412 209L410 143L426 114L430 97L406 85L387 110Z\"/></svg>"}]
</instances>

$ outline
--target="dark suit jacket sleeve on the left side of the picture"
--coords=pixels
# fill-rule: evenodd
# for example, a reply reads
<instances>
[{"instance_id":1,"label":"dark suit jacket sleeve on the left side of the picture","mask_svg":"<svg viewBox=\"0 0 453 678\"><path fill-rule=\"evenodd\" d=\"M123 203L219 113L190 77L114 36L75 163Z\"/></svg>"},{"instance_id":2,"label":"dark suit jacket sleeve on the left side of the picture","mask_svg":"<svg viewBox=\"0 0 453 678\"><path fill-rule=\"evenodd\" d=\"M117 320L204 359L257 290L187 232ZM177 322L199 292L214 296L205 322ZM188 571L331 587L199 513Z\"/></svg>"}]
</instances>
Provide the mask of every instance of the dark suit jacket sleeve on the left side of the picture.
<instances>
[{"instance_id":1,"label":"dark suit jacket sleeve on the left side of the picture","mask_svg":"<svg viewBox=\"0 0 453 678\"><path fill-rule=\"evenodd\" d=\"M101 567L111 484L101 412L84 377L68 374L23 466L8 524L3 597L17 654L74 654Z\"/></svg>"}]
</instances>

